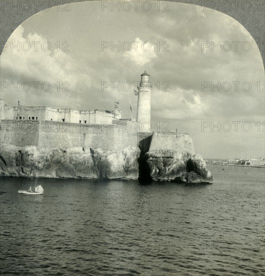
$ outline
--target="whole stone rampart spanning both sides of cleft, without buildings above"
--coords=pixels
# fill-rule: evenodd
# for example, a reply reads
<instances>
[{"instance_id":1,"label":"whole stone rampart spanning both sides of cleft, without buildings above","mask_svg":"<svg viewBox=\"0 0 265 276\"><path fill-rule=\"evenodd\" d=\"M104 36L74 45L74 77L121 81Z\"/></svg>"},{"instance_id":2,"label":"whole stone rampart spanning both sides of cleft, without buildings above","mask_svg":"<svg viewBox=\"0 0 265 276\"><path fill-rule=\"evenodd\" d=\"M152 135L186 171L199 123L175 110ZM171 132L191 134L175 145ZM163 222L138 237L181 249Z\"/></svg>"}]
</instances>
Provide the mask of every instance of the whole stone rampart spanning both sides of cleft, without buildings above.
<instances>
[{"instance_id":1,"label":"whole stone rampart spanning both sides of cleft, without buildings above","mask_svg":"<svg viewBox=\"0 0 265 276\"><path fill-rule=\"evenodd\" d=\"M188 133L124 131L111 125L80 124L48 120L2 120L1 143L19 147L40 146L47 148L101 148L121 150L137 146L143 152L162 150L194 153Z\"/></svg>"}]
</instances>

